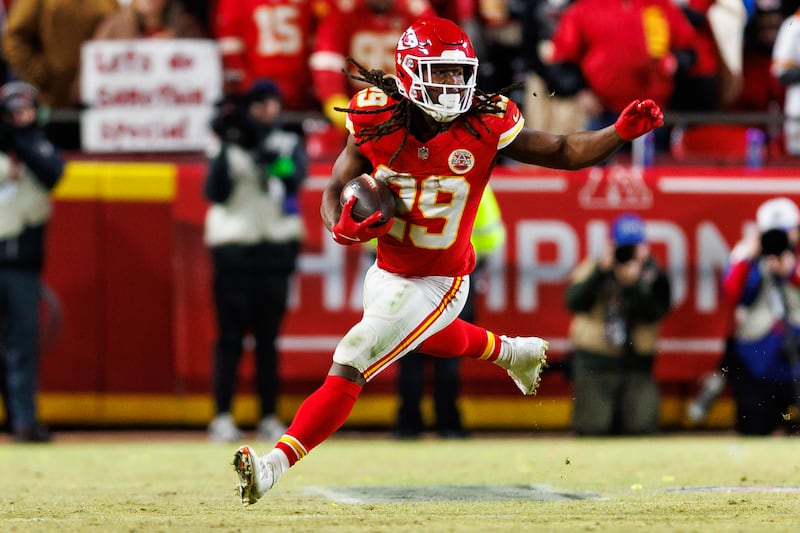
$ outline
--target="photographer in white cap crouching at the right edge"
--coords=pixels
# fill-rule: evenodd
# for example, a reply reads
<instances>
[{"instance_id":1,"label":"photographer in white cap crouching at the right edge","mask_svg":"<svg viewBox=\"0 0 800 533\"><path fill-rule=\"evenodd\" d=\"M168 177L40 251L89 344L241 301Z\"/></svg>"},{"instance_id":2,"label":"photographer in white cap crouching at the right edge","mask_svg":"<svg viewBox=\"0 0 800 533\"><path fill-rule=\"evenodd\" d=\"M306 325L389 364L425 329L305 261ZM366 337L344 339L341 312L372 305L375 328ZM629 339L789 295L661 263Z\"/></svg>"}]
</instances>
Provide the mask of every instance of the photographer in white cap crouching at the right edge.
<instances>
[{"instance_id":1,"label":"photographer in white cap crouching at the right edge","mask_svg":"<svg viewBox=\"0 0 800 533\"><path fill-rule=\"evenodd\" d=\"M800 409L800 211L788 198L765 202L757 232L737 246L723 274L725 296L736 306L728 381L736 403L736 431L797 432Z\"/></svg>"}]
</instances>

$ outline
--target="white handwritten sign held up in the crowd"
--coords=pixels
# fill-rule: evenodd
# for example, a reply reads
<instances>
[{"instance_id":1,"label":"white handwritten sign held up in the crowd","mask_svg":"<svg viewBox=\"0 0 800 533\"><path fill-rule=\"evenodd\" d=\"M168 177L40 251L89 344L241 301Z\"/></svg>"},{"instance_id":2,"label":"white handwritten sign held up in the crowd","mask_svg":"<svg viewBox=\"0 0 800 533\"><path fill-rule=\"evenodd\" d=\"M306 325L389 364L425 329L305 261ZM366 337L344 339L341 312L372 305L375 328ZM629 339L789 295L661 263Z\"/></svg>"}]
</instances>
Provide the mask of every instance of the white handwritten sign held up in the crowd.
<instances>
[{"instance_id":1,"label":"white handwritten sign held up in the crowd","mask_svg":"<svg viewBox=\"0 0 800 533\"><path fill-rule=\"evenodd\" d=\"M81 49L87 152L201 151L222 68L214 41L88 41Z\"/></svg>"}]
</instances>

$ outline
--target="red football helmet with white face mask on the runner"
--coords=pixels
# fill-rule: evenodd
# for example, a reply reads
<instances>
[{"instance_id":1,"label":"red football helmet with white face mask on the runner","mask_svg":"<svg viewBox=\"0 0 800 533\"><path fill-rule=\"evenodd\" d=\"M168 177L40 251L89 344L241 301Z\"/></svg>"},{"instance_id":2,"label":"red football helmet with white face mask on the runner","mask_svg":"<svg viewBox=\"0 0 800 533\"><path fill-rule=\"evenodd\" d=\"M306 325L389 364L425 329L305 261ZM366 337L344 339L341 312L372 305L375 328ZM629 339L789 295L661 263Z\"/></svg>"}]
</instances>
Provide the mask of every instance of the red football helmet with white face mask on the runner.
<instances>
[{"instance_id":1,"label":"red football helmet with white face mask on the runner","mask_svg":"<svg viewBox=\"0 0 800 533\"><path fill-rule=\"evenodd\" d=\"M400 36L395 60L400 94L434 120L450 122L472 105L478 59L467 34L452 21L437 17L416 21ZM431 67L438 65L461 65L464 84L432 83Z\"/></svg>"}]
</instances>

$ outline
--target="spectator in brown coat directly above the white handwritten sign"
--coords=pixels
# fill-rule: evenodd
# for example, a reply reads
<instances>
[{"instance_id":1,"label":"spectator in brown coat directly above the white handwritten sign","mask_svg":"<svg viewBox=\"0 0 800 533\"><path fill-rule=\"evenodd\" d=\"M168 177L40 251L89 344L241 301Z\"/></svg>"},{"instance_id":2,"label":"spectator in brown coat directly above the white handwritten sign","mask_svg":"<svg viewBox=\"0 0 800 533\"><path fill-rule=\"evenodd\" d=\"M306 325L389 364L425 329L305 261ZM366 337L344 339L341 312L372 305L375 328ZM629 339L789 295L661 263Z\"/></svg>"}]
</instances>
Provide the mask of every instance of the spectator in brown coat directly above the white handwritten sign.
<instances>
[{"instance_id":1,"label":"spectator in brown coat directly above the white handwritten sign","mask_svg":"<svg viewBox=\"0 0 800 533\"><path fill-rule=\"evenodd\" d=\"M208 34L177 0L131 0L108 15L94 39L205 39Z\"/></svg>"}]
</instances>

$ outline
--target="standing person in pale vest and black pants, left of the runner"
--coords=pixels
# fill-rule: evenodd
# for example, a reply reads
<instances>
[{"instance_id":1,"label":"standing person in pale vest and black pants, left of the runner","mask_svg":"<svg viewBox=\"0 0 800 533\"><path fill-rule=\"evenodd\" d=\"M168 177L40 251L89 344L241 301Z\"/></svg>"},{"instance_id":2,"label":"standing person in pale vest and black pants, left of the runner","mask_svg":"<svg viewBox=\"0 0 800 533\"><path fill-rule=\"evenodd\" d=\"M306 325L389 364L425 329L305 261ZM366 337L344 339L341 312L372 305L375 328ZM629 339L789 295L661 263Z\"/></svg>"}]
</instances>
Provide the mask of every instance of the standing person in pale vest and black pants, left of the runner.
<instances>
[{"instance_id":1,"label":"standing person in pale vest and black pants, left of the runner","mask_svg":"<svg viewBox=\"0 0 800 533\"><path fill-rule=\"evenodd\" d=\"M210 161L205 194L213 205L205 241L214 267L218 339L214 354L214 441L235 441L231 416L245 334L254 340L258 436L277 440L286 429L276 416L276 341L286 313L289 280L303 236L297 195L307 175L305 148L281 124L281 93L259 80L242 101L227 102L214 120L222 141Z\"/></svg>"}]
</instances>

